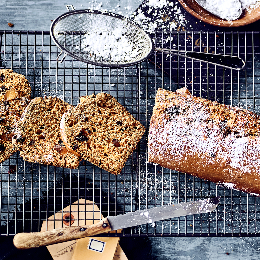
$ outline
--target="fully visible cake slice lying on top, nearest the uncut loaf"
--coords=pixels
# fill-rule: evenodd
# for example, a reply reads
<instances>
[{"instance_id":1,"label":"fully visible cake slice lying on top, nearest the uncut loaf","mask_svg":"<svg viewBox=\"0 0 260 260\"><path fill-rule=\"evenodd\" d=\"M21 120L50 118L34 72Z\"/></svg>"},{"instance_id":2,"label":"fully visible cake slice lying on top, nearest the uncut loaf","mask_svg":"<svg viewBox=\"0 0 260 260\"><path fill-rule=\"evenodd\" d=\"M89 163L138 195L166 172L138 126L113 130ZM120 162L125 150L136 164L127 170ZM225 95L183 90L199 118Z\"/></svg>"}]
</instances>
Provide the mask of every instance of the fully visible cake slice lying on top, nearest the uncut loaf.
<instances>
[{"instance_id":1,"label":"fully visible cake slice lying on top, nearest the uncut loaf","mask_svg":"<svg viewBox=\"0 0 260 260\"><path fill-rule=\"evenodd\" d=\"M145 127L111 95L82 96L61 119L61 138L74 154L119 174Z\"/></svg>"}]
</instances>

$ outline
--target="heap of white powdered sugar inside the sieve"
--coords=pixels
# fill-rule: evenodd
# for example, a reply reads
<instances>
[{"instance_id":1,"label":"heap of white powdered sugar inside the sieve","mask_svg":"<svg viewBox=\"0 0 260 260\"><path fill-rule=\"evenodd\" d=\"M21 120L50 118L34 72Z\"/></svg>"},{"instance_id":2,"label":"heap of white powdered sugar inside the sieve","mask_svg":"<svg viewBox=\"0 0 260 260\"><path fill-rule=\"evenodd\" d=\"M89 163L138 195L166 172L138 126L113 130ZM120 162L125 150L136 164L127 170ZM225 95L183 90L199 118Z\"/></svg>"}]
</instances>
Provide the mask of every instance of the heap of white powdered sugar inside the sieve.
<instances>
[{"instance_id":1,"label":"heap of white powdered sugar inside the sieve","mask_svg":"<svg viewBox=\"0 0 260 260\"><path fill-rule=\"evenodd\" d=\"M86 33L81 48L90 56L96 55L110 61L130 61L138 54L138 48L133 49L122 28L116 28L110 33ZM75 49L79 50L77 45Z\"/></svg>"}]
</instances>

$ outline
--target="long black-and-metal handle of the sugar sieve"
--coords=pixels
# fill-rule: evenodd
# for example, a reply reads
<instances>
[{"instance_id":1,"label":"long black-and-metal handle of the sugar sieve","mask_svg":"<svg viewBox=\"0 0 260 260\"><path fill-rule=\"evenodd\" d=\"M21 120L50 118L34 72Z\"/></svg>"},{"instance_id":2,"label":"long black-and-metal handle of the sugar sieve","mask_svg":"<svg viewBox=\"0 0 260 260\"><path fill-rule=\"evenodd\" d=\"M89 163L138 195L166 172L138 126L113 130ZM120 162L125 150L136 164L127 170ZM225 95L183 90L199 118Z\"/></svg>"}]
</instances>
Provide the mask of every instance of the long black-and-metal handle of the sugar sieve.
<instances>
[{"instance_id":1,"label":"long black-and-metal handle of the sugar sieve","mask_svg":"<svg viewBox=\"0 0 260 260\"><path fill-rule=\"evenodd\" d=\"M172 50L165 48L155 48L155 50L196 61L202 61L213 65L222 66L229 69L239 70L245 67L245 62L238 56L212 54L197 51Z\"/></svg>"}]
</instances>

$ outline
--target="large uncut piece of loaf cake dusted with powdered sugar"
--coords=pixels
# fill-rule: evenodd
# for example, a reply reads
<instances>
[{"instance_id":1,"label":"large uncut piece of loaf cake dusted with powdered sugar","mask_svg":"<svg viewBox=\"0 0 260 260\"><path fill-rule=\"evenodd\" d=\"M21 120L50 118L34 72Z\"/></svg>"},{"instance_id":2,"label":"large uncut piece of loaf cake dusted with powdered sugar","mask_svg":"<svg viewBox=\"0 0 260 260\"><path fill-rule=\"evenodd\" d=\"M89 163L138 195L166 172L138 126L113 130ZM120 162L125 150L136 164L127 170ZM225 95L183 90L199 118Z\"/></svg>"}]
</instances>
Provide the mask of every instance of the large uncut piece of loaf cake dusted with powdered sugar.
<instances>
[{"instance_id":1,"label":"large uncut piece of loaf cake dusted with powdered sugar","mask_svg":"<svg viewBox=\"0 0 260 260\"><path fill-rule=\"evenodd\" d=\"M158 89L148 136L148 161L259 196L260 116Z\"/></svg>"}]
</instances>

